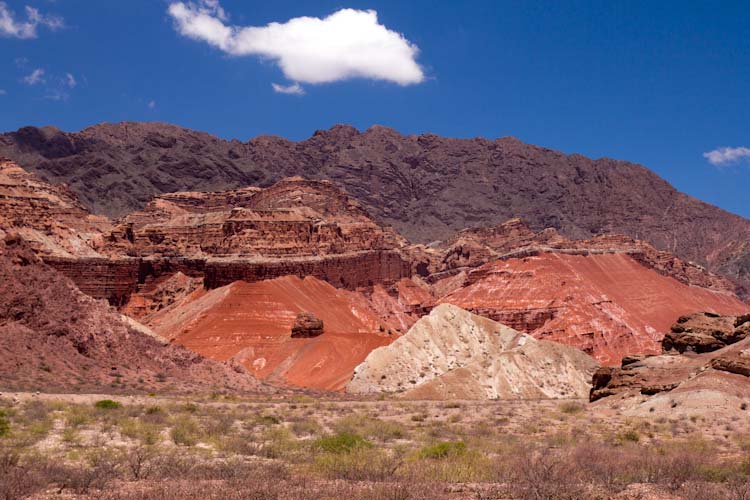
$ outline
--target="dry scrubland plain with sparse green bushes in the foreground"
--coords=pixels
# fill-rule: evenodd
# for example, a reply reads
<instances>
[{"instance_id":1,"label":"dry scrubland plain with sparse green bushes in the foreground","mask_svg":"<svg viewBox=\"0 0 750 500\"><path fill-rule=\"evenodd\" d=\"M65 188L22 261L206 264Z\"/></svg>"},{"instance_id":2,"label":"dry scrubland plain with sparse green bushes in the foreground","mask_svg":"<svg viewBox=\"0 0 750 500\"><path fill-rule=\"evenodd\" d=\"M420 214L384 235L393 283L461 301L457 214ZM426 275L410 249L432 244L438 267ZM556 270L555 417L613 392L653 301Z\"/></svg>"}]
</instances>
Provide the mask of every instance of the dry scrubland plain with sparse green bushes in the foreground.
<instances>
[{"instance_id":1,"label":"dry scrubland plain with sparse green bushes in the foreground","mask_svg":"<svg viewBox=\"0 0 750 500\"><path fill-rule=\"evenodd\" d=\"M583 402L41 399L0 400L0 499L750 498L743 421L727 439Z\"/></svg>"}]
</instances>

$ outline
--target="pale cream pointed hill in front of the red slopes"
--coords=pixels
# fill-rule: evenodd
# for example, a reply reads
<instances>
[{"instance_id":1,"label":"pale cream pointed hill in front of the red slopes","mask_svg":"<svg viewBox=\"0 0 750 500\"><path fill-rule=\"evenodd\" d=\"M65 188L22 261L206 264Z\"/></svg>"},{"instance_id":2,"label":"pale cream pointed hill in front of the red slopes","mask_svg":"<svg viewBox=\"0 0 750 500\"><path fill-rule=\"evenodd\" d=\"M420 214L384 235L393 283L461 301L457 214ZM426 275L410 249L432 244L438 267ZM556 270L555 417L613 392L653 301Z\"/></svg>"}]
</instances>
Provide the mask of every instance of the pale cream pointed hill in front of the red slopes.
<instances>
[{"instance_id":1,"label":"pale cream pointed hill in front of the red slopes","mask_svg":"<svg viewBox=\"0 0 750 500\"><path fill-rule=\"evenodd\" d=\"M427 399L580 398L596 362L442 304L359 365L347 391Z\"/></svg>"}]
</instances>

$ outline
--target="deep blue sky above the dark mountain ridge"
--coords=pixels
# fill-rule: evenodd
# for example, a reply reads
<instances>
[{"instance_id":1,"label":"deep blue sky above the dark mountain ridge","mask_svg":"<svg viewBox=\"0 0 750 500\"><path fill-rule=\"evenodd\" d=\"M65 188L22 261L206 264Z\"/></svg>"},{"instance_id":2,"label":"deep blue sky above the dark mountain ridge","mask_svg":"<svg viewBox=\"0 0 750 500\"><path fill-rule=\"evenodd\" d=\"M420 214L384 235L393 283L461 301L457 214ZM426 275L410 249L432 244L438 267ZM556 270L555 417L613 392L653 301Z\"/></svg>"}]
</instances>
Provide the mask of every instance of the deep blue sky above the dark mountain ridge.
<instances>
[{"instance_id":1,"label":"deep blue sky above the dark mountain ridge","mask_svg":"<svg viewBox=\"0 0 750 500\"><path fill-rule=\"evenodd\" d=\"M750 2L182 4L218 29L375 10L373 36L403 38L385 67L373 63L377 54L355 61L356 78L337 73L335 48L321 69L317 55L292 60L271 54L275 46L196 35L168 11L174 3L0 1L0 130L158 120L240 140L304 139L335 123L512 135L642 163L680 190L750 215L750 149L742 149L750 148ZM721 147L735 149L715 153L724 163L712 165L704 153Z\"/></svg>"}]
</instances>

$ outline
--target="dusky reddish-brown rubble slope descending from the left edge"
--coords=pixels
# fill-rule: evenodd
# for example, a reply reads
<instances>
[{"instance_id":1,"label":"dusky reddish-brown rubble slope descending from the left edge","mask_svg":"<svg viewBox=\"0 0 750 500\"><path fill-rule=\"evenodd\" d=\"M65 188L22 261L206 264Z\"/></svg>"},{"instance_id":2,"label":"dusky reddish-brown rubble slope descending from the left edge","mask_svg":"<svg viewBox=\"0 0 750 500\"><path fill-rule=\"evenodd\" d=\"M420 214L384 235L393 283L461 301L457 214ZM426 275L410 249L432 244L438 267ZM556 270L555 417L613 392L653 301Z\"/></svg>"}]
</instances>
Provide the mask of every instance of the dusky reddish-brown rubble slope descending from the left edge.
<instances>
[{"instance_id":1,"label":"dusky reddish-brown rubble slope descending from the left edge","mask_svg":"<svg viewBox=\"0 0 750 500\"><path fill-rule=\"evenodd\" d=\"M0 239L0 389L269 391L238 364L149 333L82 294L20 237Z\"/></svg>"}]
</instances>

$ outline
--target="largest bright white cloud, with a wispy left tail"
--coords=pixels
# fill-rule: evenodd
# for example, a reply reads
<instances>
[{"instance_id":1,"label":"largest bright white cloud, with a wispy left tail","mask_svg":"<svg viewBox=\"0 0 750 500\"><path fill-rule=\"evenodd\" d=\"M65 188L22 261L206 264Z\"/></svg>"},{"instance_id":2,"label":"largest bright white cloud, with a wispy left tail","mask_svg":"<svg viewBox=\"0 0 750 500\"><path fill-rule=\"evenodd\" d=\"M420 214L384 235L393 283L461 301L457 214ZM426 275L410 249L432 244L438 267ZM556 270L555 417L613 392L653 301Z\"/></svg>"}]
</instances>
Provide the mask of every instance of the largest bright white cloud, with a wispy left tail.
<instances>
[{"instance_id":1,"label":"largest bright white cloud, with a wispy left tail","mask_svg":"<svg viewBox=\"0 0 750 500\"><path fill-rule=\"evenodd\" d=\"M341 9L322 19L258 27L228 26L217 0L172 2L168 12L181 35L230 55L271 59L295 84L369 78L411 85L425 78L417 46L379 24L374 10Z\"/></svg>"}]
</instances>

